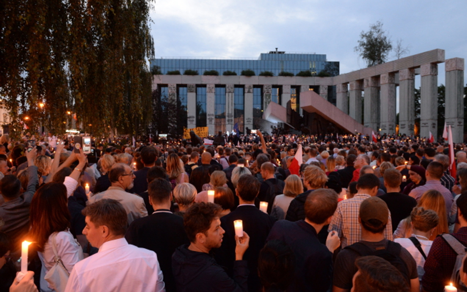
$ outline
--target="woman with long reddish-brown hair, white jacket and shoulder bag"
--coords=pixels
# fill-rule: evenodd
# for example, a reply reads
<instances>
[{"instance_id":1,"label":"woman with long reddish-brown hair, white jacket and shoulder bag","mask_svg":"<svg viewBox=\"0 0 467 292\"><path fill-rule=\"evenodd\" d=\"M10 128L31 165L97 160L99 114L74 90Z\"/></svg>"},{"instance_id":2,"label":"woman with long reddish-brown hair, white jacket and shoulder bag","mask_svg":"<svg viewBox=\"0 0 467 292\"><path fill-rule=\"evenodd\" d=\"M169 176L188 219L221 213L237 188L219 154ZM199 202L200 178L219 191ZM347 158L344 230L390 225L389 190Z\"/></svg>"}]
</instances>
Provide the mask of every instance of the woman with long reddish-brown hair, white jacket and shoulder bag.
<instances>
[{"instance_id":1,"label":"woman with long reddish-brown hair, white jacket and shoulder bag","mask_svg":"<svg viewBox=\"0 0 467 292\"><path fill-rule=\"evenodd\" d=\"M41 291L54 291L44 277L55 264L53 245L68 273L83 259L83 251L69 231L70 214L67 208L67 188L64 184L48 183L40 187L31 202L31 230L29 241L38 251L42 262Z\"/></svg>"}]
</instances>

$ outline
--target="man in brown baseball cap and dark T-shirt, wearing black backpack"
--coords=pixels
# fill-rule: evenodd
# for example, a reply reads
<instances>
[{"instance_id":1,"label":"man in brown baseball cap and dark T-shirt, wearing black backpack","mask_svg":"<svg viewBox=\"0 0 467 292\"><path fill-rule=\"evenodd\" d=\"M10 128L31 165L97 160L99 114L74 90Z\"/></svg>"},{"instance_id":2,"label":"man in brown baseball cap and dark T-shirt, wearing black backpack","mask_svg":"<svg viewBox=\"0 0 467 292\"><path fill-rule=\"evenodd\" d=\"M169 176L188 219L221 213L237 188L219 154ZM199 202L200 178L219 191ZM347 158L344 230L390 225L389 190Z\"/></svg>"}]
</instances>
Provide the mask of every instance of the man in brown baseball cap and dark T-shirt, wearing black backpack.
<instances>
[{"instance_id":1,"label":"man in brown baseball cap and dark T-shirt, wearing black backpack","mask_svg":"<svg viewBox=\"0 0 467 292\"><path fill-rule=\"evenodd\" d=\"M380 256L400 262L401 273L410 280L410 290L419 291L417 264L410 253L400 244L384 238L384 229L389 221L389 209L379 197L371 196L360 204L359 224L362 227L362 239L344 248L334 263L333 292L350 291L352 278L357 272L355 260L361 256ZM396 266L396 265L395 265ZM398 267L398 266L396 266ZM399 268L398 268L399 269Z\"/></svg>"}]
</instances>

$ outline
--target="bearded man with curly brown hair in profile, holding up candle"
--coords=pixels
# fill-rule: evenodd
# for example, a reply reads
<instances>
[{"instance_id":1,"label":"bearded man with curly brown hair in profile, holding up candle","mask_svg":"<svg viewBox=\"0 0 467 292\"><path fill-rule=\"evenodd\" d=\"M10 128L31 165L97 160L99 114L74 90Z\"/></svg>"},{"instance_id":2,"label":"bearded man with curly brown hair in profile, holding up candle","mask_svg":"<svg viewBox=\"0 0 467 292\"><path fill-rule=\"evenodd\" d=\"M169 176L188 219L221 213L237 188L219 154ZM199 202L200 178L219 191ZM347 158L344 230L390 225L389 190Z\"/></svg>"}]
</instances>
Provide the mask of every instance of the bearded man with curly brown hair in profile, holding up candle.
<instances>
[{"instance_id":1,"label":"bearded man with curly brown hair in profile, holding up candle","mask_svg":"<svg viewBox=\"0 0 467 292\"><path fill-rule=\"evenodd\" d=\"M172 256L178 292L249 291L247 261L243 260L249 248L247 232L243 231L242 237L235 236L233 278L209 255L212 249L224 245L225 231L218 217L221 210L217 204L204 202L195 203L187 210L184 227L190 244L178 247Z\"/></svg>"}]
</instances>

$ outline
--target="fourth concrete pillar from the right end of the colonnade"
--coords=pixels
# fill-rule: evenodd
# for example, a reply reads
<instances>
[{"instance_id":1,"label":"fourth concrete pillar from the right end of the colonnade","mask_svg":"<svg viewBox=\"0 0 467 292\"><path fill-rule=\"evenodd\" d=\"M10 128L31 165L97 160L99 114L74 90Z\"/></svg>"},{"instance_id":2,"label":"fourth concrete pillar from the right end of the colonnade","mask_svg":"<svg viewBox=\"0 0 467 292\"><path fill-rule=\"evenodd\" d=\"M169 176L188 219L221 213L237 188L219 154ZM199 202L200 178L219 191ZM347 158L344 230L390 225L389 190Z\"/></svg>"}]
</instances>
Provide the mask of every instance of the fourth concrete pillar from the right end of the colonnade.
<instances>
[{"instance_id":1,"label":"fourth concrete pillar from the right end of the colonnade","mask_svg":"<svg viewBox=\"0 0 467 292\"><path fill-rule=\"evenodd\" d=\"M394 73L380 76L381 84L381 133L396 132L396 84Z\"/></svg>"}]
</instances>

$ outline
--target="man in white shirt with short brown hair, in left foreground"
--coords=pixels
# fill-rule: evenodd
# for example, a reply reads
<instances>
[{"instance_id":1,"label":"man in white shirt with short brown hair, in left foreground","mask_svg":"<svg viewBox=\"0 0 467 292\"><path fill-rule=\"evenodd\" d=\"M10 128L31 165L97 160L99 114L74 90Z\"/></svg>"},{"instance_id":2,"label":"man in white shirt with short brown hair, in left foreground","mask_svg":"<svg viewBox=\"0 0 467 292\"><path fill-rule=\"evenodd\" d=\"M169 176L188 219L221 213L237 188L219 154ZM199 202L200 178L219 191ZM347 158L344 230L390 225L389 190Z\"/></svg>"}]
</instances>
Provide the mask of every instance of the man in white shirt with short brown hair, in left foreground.
<instances>
[{"instance_id":1,"label":"man in white shirt with short brown hair, in left foreground","mask_svg":"<svg viewBox=\"0 0 467 292\"><path fill-rule=\"evenodd\" d=\"M88 205L83 215L83 234L99 252L75 264L66 292L165 292L157 255L124 238L127 214L122 204L101 199Z\"/></svg>"}]
</instances>

